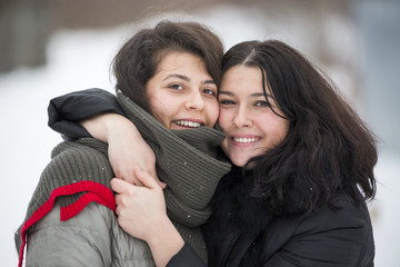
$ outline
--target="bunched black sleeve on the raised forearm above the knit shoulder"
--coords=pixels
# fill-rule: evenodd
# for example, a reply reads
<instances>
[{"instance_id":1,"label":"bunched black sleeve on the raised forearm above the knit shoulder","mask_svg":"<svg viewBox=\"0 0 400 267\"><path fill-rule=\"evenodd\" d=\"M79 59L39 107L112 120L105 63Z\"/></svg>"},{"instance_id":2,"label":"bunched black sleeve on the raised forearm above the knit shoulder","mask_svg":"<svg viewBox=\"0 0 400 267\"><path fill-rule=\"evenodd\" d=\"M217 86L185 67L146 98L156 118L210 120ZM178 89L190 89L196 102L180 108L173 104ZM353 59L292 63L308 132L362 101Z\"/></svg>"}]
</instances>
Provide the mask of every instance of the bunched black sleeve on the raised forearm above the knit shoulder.
<instances>
[{"instance_id":1,"label":"bunched black sleeve on the raised forearm above the knit shoulder","mask_svg":"<svg viewBox=\"0 0 400 267\"><path fill-rule=\"evenodd\" d=\"M48 125L66 140L91 137L79 121L106 112L124 116L114 95L98 88L74 91L50 100Z\"/></svg>"}]
</instances>

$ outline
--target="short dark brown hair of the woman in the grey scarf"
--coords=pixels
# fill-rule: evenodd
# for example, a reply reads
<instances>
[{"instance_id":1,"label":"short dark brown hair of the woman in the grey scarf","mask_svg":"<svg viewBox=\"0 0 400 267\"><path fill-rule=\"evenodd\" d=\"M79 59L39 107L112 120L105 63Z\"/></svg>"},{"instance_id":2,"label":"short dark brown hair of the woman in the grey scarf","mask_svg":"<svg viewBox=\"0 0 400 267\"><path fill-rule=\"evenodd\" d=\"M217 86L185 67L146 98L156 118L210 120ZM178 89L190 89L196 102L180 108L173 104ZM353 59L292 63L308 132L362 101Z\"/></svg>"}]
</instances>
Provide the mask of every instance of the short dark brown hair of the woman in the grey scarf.
<instances>
[{"instance_id":1,"label":"short dark brown hair of the woman in the grey scarf","mask_svg":"<svg viewBox=\"0 0 400 267\"><path fill-rule=\"evenodd\" d=\"M148 112L146 85L169 51L200 57L214 82L220 82L223 44L219 37L198 22L163 20L130 38L118 51L112 65L116 87Z\"/></svg>"}]
</instances>

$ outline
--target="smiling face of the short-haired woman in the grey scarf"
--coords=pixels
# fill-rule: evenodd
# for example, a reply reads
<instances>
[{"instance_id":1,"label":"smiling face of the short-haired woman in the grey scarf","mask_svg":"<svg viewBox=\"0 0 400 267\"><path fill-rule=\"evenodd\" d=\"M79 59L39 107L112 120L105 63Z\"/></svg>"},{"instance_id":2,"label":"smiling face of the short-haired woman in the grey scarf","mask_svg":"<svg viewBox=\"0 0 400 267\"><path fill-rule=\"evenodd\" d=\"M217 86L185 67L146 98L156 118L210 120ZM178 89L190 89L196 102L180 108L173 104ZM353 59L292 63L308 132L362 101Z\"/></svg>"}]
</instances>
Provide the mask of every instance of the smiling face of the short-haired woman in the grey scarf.
<instances>
[{"instance_id":1,"label":"smiling face of the short-haired woman in the grey scarf","mask_svg":"<svg viewBox=\"0 0 400 267\"><path fill-rule=\"evenodd\" d=\"M166 53L146 90L151 113L168 129L213 127L218 119L217 85L197 56Z\"/></svg>"}]
</instances>

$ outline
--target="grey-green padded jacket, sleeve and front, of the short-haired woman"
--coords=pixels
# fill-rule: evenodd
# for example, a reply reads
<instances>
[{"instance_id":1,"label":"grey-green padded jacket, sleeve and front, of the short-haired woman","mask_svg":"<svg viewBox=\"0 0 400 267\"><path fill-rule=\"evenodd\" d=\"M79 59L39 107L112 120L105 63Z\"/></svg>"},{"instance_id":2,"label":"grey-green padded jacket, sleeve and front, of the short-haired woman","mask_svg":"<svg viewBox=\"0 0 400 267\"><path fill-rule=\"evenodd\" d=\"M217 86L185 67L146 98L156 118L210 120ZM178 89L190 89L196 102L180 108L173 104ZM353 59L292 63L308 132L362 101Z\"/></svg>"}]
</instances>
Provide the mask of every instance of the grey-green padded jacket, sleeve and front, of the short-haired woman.
<instances>
[{"instance_id":1,"label":"grey-green padded jacket, sleeve and front, of the short-haired woman","mask_svg":"<svg viewBox=\"0 0 400 267\"><path fill-rule=\"evenodd\" d=\"M117 261L154 266L147 244L124 233L111 209L90 202L66 221L60 220L60 209L57 201L29 229L27 266L111 266Z\"/></svg>"}]
</instances>

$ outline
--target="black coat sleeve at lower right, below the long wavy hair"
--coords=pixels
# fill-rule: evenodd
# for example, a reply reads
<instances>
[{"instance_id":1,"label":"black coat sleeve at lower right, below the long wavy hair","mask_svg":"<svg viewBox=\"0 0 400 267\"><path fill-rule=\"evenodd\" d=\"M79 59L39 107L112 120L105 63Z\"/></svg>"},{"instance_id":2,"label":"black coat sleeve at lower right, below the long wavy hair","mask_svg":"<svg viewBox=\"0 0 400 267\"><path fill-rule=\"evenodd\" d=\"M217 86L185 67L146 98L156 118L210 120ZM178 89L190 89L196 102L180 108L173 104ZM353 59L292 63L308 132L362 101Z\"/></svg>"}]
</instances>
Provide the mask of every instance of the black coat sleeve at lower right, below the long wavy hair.
<instances>
[{"instance_id":1,"label":"black coat sleeve at lower right, below the long wavy hair","mask_svg":"<svg viewBox=\"0 0 400 267\"><path fill-rule=\"evenodd\" d=\"M263 266L373 266L374 245L367 207L341 200L341 208L328 207L306 216L289 240ZM269 243L286 233L284 224L269 236Z\"/></svg>"}]
</instances>

